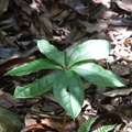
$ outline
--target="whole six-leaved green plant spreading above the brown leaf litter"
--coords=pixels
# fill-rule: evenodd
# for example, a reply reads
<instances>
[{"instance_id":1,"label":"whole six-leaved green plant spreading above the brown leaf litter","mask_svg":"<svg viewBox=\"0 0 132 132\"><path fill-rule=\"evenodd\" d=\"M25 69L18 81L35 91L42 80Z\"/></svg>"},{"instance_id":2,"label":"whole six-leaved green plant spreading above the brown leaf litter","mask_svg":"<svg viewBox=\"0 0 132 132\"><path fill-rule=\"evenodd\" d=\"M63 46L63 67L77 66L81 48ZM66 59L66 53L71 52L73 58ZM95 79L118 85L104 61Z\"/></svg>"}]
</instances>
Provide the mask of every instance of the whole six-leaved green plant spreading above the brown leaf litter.
<instances>
[{"instance_id":1,"label":"whole six-leaved green plant spreading above the brown leaf litter","mask_svg":"<svg viewBox=\"0 0 132 132\"><path fill-rule=\"evenodd\" d=\"M33 98L53 88L58 103L75 119L81 110L85 99L81 78L97 85L121 87L125 84L114 74L88 59L101 59L109 55L111 44L105 40L91 40L72 47L68 52L58 51L45 40L37 42L41 53L47 58L40 58L21 65L6 73L22 76L40 69L58 69L28 86L18 86L14 98Z\"/></svg>"}]
</instances>

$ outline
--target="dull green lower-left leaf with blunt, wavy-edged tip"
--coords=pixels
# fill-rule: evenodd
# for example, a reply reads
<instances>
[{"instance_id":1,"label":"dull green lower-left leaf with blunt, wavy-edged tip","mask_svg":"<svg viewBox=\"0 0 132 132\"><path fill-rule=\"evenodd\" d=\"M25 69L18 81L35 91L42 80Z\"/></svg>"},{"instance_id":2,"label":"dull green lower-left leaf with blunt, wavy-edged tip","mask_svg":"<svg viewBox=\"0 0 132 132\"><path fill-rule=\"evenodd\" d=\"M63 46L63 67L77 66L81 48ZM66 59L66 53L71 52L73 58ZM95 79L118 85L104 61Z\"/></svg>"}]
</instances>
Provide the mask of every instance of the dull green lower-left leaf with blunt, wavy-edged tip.
<instances>
[{"instance_id":1,"label":"dull green lower-left leaf with blunt, wavy-edged tip","mask_svg":"<svg viewBox=\"0 0 132 132\"><path fill-rule=\"evenodd\" d=\"M14 90L14 98L33 98L40 96L53 88L56 74L51 74L42 79L36 79L31 85L18 86Z\"/></svg>"}]
</instances>

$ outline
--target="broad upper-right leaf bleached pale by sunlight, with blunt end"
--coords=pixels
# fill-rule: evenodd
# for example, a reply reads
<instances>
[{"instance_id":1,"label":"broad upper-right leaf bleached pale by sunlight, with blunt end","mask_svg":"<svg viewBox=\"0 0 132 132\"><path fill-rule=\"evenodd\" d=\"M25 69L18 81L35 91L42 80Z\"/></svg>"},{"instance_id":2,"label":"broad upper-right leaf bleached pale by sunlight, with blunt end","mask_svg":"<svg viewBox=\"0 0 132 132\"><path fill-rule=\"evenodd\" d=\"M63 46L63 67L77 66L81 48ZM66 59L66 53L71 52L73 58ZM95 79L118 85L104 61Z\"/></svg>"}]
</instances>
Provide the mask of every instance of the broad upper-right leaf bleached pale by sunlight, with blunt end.
<instances>
[{"instance_id":1,"label":"broad upper-right leaf bleached pale by sunlight, with blunt end","mask_svg":"<svg viewBox=\"0 0 132 132\"><path fill-rule=\"evenodd\" d=\"M68 67L85 59L101 59L108 57L111 44L105 40L91 40L72 47L67 53Z\"/></svg>"}]
</instances>

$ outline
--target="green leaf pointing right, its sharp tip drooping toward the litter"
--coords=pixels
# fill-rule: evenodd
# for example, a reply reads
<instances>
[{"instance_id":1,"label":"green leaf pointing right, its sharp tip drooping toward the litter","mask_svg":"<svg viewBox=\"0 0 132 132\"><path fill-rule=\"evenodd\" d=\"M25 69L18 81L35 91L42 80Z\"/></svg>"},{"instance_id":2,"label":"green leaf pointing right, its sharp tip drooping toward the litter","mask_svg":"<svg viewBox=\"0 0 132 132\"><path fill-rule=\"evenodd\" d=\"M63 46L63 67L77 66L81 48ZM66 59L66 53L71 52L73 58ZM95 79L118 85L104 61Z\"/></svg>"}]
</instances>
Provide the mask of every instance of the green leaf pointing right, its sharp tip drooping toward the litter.
<instances>
[{"instance_id":1,"label":"green leaf pointing right, its sharp tip drooping toward the litter","mask_svg":"<svg viewBox=\"0 0 132 132\"><path fill-rule=\"evenodd\" d=\"M111 72L103 69L101 66L95 63L80 63L70 68L86 80L97 86L121 87L125 84Z\"/></svg>"}]
</instances>

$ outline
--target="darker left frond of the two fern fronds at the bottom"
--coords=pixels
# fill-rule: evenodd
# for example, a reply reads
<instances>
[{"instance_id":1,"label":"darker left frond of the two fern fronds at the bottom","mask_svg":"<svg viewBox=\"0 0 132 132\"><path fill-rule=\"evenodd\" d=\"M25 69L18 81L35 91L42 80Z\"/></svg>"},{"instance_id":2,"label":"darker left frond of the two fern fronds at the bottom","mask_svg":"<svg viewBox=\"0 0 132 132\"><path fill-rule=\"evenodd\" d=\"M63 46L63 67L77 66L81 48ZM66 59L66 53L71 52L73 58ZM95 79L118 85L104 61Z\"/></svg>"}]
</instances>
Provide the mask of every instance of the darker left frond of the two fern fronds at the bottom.
<instances>
[{"instance_id":1,"label":"darker left frond of the two fern fronds at the bottom","mask_svg":"<svg viewBox=\"0 0 132 132\"><path fill-rule=\"evenodd\" d=\"M97 120L97 118L91 118L85 121L77 132L90 132L91 125Z\"/></svg>"}]
</instances>

